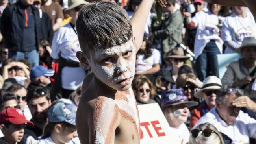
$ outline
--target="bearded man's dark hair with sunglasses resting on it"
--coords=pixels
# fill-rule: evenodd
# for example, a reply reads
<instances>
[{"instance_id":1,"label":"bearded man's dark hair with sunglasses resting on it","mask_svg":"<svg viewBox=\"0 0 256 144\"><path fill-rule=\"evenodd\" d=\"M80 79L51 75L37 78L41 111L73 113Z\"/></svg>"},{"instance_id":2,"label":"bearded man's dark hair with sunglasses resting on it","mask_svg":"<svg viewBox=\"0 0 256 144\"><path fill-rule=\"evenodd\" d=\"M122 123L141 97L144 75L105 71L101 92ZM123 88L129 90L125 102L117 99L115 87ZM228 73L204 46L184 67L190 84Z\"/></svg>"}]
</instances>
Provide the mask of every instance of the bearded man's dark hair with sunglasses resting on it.
<instances>
[{"instance_id":1,"label":"bearded man's dark hair with sunglasses resting on it","mask_svg":"<svg viewBox=\"0 0 256 144\"><path fill-rule=\"evenodd\" d=\"M33 98L40 98L40 97L46 97L46 99L50 100L50 92L44 87L35 87L28 91L27 94L27 102L29 103L30 100Z\"/></svg>"}]
</instances>

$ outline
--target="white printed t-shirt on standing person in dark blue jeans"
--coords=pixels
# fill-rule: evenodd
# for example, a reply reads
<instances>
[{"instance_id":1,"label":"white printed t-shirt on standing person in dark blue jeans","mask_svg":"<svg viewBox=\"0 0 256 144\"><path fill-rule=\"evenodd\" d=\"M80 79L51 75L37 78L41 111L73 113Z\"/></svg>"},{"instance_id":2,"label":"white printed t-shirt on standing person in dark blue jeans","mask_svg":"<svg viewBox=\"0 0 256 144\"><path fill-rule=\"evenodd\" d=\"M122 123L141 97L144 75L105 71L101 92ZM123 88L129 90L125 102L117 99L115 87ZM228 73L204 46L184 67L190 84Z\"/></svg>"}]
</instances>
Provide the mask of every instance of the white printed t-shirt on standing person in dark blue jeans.
<instances>
[{"instance_id":1,"label":"white printed t-shirt on standing person in dark blue jeans","mask_svg":"<svg viewBox=\"0 0 256 144\"><path fill-rule=\"evenodd\" d=\"M204 47L210 40L215 40L219 51L222 53L223 41L219 37L219 18L217 15L213 15L210 11L199 11L192 18L192 21L197 27L194 54L195 59L202 53Z\"/></svg>"}]
</instances>

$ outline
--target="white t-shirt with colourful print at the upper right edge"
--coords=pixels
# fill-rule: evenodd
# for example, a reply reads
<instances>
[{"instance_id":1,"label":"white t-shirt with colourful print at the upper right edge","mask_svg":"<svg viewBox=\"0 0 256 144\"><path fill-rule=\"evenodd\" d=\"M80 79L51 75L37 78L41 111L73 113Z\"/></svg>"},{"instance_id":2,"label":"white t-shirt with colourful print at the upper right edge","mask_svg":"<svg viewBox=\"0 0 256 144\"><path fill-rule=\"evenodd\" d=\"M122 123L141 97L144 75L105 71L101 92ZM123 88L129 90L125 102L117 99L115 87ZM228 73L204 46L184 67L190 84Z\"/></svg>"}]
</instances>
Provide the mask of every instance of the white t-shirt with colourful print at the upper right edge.
<instances>
[{"instance_id":1,"label":"white t-shirt with colourful print at the upper right edge","mask_svg":"<svg viewBox=\"0 0 256 144\"><path fill-rule=\"evenodd\" d=\"M223 41L234 41L242 44L245 37L255 37L256 24L252 13L247 13L247 17L238 17L235 13L225 18L221 28ZM226 48L225 53L235 53L230 48Z\"/></svg>"}]
</instances>

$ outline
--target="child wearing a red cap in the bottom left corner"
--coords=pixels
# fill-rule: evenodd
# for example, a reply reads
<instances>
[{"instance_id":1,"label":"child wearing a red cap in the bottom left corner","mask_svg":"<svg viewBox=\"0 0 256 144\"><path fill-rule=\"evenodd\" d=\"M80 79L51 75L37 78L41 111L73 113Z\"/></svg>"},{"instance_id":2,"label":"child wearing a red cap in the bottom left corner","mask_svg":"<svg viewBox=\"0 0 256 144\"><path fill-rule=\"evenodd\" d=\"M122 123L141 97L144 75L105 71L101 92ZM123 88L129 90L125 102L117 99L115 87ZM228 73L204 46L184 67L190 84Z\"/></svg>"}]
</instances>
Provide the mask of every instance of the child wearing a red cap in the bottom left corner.
<instances>
[{"instance_id":1,"label":"child wearing a red cap in the bottom left corner","mask_svg":"<svg viewBox=\"0 0 256 144\"><path fill-rule=\"evenodd\" d=\"M0 144L20 142L26 124L34 125L33 122L26 119L20 109L13 107L4 109L0 114L0 129L4 133L4 137L0 138Z\"/></svg>"}]
</instances>

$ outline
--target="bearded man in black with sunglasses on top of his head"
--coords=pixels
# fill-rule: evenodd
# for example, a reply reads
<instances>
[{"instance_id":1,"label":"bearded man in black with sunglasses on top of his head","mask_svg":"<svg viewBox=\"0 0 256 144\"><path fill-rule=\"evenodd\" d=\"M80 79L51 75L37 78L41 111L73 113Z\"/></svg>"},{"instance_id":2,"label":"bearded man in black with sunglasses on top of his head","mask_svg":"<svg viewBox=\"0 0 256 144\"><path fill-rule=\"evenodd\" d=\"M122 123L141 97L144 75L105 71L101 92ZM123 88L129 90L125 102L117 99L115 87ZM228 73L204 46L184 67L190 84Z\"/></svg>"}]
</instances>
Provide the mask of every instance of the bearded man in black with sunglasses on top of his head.
<instances>
[{"instance_id":1,"label":"bearded man in black with sunglasses on top of his head","mask_svg":"<svg viewBox=\"0 0 256 144\"><path fill-rule=\"evenodd\" d=\"M35 125L26 128L39 137L43 134L43 128L47 123L48 108L51 106L50 92L44 87L31 89L27 94L27 103L32 114L31 121Z\"/></svg>"}]
</instances>

